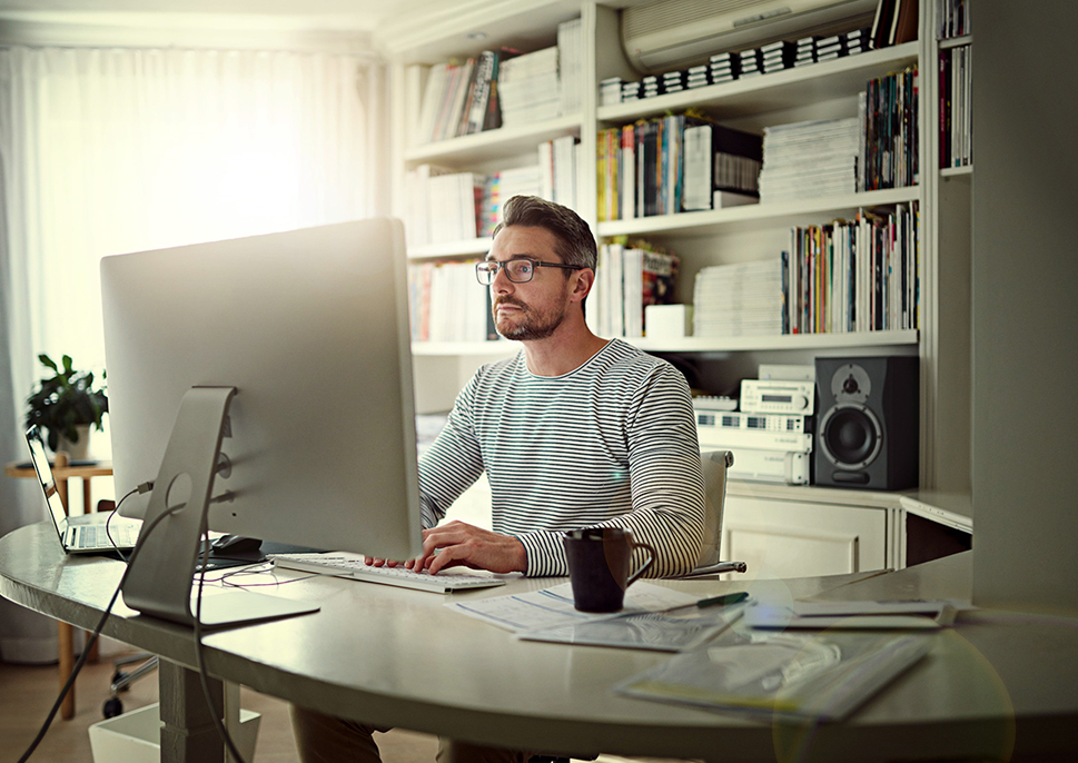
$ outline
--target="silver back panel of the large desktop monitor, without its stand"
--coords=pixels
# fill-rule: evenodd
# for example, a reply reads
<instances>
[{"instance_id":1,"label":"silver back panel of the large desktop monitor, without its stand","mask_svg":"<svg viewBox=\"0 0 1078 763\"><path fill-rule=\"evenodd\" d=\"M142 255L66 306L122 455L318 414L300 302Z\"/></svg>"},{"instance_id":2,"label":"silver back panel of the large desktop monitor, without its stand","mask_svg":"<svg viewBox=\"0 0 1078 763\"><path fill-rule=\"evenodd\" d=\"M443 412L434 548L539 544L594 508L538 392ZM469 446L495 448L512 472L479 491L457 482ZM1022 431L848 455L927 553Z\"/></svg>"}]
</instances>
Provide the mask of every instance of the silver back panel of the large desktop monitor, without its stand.
<instances>
[{"instance_id":1,"label":"silver back panel of the large desktop monitor, without its stand","mask_svg":"<svg viewBox=\"0 0 1078 763\"><path fill-rule=\"evenodd\" d=\"M235 388L210 529L417 555L405 265L390 219L103 258L117 496L158 477L189 390ZM154 493L174 489L182 493L171 483ZM121 514L147 506L135 495Z\"/></svg>"}]
</instances>

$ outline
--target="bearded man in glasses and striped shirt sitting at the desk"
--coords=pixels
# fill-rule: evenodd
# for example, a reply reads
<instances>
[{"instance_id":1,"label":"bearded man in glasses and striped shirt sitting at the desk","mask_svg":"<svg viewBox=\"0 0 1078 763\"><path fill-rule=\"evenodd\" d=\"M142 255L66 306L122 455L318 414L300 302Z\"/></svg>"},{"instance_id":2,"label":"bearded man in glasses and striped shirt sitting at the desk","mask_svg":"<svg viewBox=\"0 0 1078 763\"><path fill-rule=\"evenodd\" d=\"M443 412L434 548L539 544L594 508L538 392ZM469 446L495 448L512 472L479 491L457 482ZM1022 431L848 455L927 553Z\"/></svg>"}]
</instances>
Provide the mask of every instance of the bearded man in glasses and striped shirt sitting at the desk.
<instances>
[{"instance_id":1,"label":"bearded man in glasses and striped shirt sitting at the desk","mask_svg":"<svg viewBox=\"0 0 1078 763\"><path fill-rule=\"evenodd\" d=\"M491 288L498 334L524 349L476 371L421 459L427 529L409 568L565 575L562 532L590 526L626 527L652 545L653 576L693 567L704 497L689 387L670 364L587 328L595 260L595 239L571 209L527 196L505 204L476 276ZM494 529L438 526L483 472ZM378 760L370 727L300 708L293 717L305 763ZM443 762L527 757L446 740L438 752Z\"/></svg>"}]
</instances>

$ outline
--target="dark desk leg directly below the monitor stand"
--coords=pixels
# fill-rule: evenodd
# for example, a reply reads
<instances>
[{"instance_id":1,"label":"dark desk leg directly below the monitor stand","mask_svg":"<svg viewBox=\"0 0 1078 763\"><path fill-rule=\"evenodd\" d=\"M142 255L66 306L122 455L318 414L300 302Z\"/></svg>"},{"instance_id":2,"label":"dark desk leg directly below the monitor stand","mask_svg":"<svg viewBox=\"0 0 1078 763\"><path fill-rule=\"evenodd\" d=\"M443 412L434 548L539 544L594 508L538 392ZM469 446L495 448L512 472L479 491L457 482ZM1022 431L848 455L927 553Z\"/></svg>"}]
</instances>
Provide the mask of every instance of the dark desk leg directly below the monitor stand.
<instances>
[{"instance_id":1,"label":"dark desk leg directly below the monitor stand","mask_svg":"<svg viewBox=\"0 0 1078 763\"><path fill-rule=\"evenodd\" d=\"M209 715L198 672L160 660L161 763L224 763L225 745ZM224 683L209 680L210 695L224 706Z\"/></svg>"}]
</instances>

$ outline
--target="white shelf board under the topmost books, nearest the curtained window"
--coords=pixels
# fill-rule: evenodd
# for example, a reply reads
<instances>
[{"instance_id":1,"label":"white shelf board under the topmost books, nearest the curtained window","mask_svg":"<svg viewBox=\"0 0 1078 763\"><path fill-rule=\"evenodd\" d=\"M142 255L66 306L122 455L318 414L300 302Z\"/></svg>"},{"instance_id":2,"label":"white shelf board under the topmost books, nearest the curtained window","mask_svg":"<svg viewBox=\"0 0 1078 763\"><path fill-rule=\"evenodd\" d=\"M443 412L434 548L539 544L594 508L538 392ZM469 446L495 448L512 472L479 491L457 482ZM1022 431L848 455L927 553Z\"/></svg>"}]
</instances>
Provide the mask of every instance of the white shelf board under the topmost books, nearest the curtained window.
<instances>
[{"instance_id":1,"label":"white shelf board under the topmost books, nearest the curtained window","mask_svg":"<svg viewBox=\"0 0 1078 763\"><path fill-rule=\"evenodd\" d=\"M416 146L405 150L404 159L411 164L436 161L448 166L467 166L520 156L534 151L543 141L567 135L578 136L580 131L581 115L577 113Z\"/></svg>"}]
</instances>

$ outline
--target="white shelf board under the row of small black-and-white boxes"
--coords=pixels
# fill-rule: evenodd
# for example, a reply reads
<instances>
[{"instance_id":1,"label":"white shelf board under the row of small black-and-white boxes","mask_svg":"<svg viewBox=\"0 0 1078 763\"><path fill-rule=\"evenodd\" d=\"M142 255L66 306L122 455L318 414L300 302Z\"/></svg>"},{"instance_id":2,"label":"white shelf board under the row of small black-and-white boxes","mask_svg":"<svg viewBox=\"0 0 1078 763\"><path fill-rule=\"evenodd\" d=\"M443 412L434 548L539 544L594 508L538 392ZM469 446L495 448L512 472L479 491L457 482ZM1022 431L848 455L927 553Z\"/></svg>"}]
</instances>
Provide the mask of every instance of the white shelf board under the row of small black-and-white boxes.
<instances>
[{"instance_id":1,"label":"white shelf board under the row of small black-and-white boxes","mask_svg":"<svg viewBox=\"0 0 1078 763\"><path fill-rule=\"evenodd\" d=\"M599 109L599 120L629 123L667 111L684 111L689 107L712 107L714 116L729 119L808 106L854 96L864 89L868 80L882 77L917 59L918 43L904 42L749 79L603 106Z\"/></svg>"}]
</instances>

